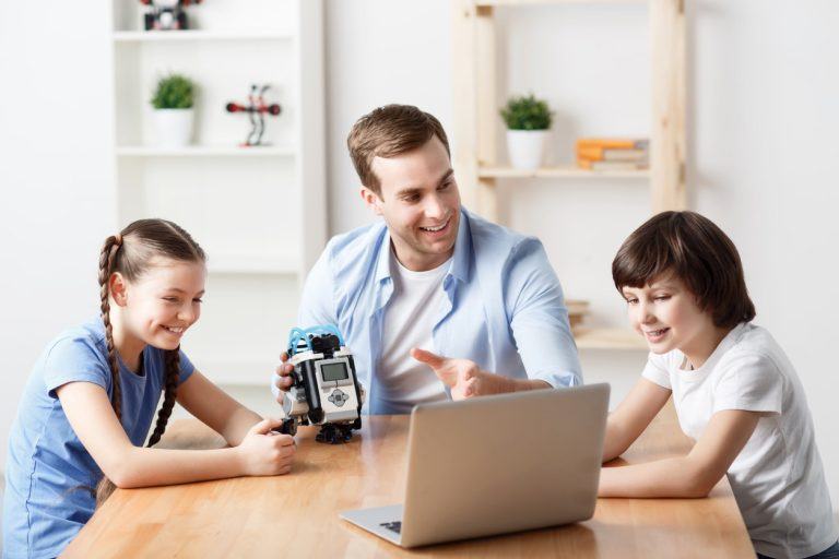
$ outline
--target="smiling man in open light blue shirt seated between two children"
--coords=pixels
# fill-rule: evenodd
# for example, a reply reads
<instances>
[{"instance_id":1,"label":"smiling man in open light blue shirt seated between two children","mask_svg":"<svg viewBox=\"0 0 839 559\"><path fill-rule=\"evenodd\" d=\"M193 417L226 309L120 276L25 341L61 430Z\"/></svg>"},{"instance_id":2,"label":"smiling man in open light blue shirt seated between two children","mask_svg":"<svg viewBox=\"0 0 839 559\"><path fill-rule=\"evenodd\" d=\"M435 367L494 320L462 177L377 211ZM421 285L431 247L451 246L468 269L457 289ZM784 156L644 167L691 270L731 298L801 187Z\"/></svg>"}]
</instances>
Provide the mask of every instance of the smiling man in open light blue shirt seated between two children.
<instances>
[{"instance_id":1,"label":"smiling man in open light blue shirt seated between two children","mask_svg":"<svg viewBox=\"0 0 839 559\"><path fill-rule=\"evenodd\" d=\"M347 146L362 199L383 223L327 245L298 324L338 325L369 413L580 384L563 292L541 242L461 207L439 121L388 105L355 123ZM276 369L280 402L292 370Z\"/></svg>"}]
</instances>

